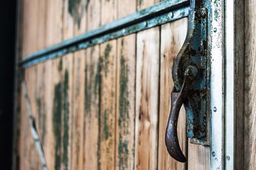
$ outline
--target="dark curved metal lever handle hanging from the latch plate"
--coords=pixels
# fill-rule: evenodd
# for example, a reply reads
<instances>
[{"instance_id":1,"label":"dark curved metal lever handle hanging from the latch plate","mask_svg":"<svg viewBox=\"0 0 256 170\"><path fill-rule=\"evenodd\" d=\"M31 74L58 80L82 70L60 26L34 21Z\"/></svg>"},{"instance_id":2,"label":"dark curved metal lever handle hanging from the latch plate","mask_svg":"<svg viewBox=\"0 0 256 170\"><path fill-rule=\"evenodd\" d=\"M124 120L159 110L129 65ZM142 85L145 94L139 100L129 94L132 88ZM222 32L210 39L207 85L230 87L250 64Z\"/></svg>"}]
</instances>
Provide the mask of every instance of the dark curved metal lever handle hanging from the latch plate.
<instances>
[{"instance_id":1,"label":"dark curved metal lever handle hanging from the latch plate","mask_svg":"<svg viewBox=\"0 0 256 170\"><path fill-rule=\"evenodd\" d=\"M195 66L186 67L184 73L184 81L179 92L173 87L172 90L172 108L170 111L170 117L166 127L165 133L165 144L169 154L173 159L179 162L186 162L186 158L182 151L180 150L179 139L177 136L177 123L179 118L179 111L186 100L188 95L189 86L191 82L195 79L197 74L197 69Z\"/></svg>"}]
</instances>

